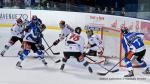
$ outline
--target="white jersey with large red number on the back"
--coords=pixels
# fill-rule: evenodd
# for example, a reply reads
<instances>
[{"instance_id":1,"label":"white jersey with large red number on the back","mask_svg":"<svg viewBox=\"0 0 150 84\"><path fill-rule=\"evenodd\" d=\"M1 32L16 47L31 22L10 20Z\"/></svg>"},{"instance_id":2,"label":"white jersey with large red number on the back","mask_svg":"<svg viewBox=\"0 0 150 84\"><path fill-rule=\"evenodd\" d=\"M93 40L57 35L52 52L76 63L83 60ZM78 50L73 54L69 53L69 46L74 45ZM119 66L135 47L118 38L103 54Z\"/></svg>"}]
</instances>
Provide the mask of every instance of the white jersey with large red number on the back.
<instances>
[{"instance_id":1,"label":"white jersey with large red number on the back","mask_svg":"<svg viewBox=\"0 0 150 84\"><path fill-rule=\"evenodd\" d=\"M70 33L65 40L67 52L81 52L83 53L84 49L84 38L77 33Z\"/></svg>"}]
</instances>

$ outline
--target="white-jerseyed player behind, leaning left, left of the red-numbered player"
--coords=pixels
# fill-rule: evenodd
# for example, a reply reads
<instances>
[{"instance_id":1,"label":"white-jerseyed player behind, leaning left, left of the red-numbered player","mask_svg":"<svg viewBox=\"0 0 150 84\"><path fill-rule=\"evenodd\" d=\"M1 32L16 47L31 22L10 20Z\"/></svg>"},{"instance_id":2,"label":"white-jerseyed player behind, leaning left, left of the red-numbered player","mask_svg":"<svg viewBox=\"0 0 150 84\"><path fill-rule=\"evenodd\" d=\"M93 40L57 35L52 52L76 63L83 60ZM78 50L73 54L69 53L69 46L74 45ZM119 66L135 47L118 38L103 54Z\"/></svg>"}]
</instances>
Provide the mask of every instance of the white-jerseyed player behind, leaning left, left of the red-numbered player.
<instances>
[{"instance_id":1,"label":"white-jerseyed player behind, leaning left, left of the red-numbered player","mask_svg":"<svg viewBox=\"0 0 150 84\"><path fill-rule=\"evenodd\" d=\"M72 27L70 27L68 24L65 24L65 21L61 20L59 22L59 26L61 28L61 34L59 35L59 38L54 41L53 45L57 45L60 41L65 39L70 33L74 31Z\"/></svg>"}]
</instances>

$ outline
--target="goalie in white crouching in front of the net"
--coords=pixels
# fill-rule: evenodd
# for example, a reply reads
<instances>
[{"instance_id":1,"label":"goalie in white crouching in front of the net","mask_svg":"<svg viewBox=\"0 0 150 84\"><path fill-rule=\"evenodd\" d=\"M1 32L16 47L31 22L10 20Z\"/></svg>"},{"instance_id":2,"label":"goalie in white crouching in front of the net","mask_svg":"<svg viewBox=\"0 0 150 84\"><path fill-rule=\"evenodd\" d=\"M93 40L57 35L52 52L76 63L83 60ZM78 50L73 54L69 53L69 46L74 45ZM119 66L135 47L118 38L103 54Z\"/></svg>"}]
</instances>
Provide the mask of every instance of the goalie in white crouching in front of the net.
<instances>
[{"instance_id":1,"label":"goalie in white crouching in front of the net","mask_svg":"<svg viewBox=\"0 0 150 84\"><path fill-rule=\"evenodd\" d=\"M86 31L88 37L88 44L85 48L89 48L88 55L90 56L102 56L104 47L102 40L97 35L94 35L93 30Z\"/></svg>"}]
</instances>

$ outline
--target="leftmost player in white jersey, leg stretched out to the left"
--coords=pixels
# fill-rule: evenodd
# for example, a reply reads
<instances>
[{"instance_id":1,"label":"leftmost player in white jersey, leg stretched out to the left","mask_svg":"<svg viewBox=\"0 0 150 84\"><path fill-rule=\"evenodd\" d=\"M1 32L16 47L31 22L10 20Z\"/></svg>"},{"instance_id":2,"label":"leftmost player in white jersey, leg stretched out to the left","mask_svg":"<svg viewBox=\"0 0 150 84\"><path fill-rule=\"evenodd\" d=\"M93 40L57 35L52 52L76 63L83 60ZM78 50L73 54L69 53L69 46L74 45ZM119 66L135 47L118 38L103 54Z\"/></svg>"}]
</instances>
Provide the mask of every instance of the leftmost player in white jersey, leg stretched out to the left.
<instances>
[{"instance_id":1,"label":"leftmost player in white jersey, leg stretched out to the left","mask_svg":"<svg viewBox=\"0 0 150 84\"><path fill-rule=\"evenodd\" d=\"M24 28L22 26L23 21L21 18L18 18L16 20L16 23L13 25L11 28L11 39L9 42L5 45L4 49L1 52L1 56L4 56L5 52L12 46L14 45L18 40L22 43L23 41L23 32Z\"/></svg>"}]
</instances>

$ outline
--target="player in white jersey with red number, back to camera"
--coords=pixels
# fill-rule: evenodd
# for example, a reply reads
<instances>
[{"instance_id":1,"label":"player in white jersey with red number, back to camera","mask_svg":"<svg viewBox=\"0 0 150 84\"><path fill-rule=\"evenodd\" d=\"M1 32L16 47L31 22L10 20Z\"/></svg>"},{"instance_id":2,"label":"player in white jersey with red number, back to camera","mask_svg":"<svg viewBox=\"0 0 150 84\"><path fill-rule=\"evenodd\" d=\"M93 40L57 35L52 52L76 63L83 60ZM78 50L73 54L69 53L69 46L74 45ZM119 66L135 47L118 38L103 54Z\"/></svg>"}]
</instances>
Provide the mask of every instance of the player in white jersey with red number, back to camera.
<instances>
[{"instance_id":1,"label":"player in white jersey with red number, back to camera","mask_svg":"<svg viewBox=\"0 0 150 84\"><path fill-rule=\"evenodd\" d=\"M82 30L80 27L75 28L75 32L70 33L65 40L68 45L67 49L63 52L64 58L62 59L63 64L61 65L60 70L64 69L65 63L70 58L70 56L74 56L78 62L83 63L83 65L88 68L90 73L93 72L88 62L84 60L84 38L80 35L81 31Z\"/></svg>"}]
</instances>

